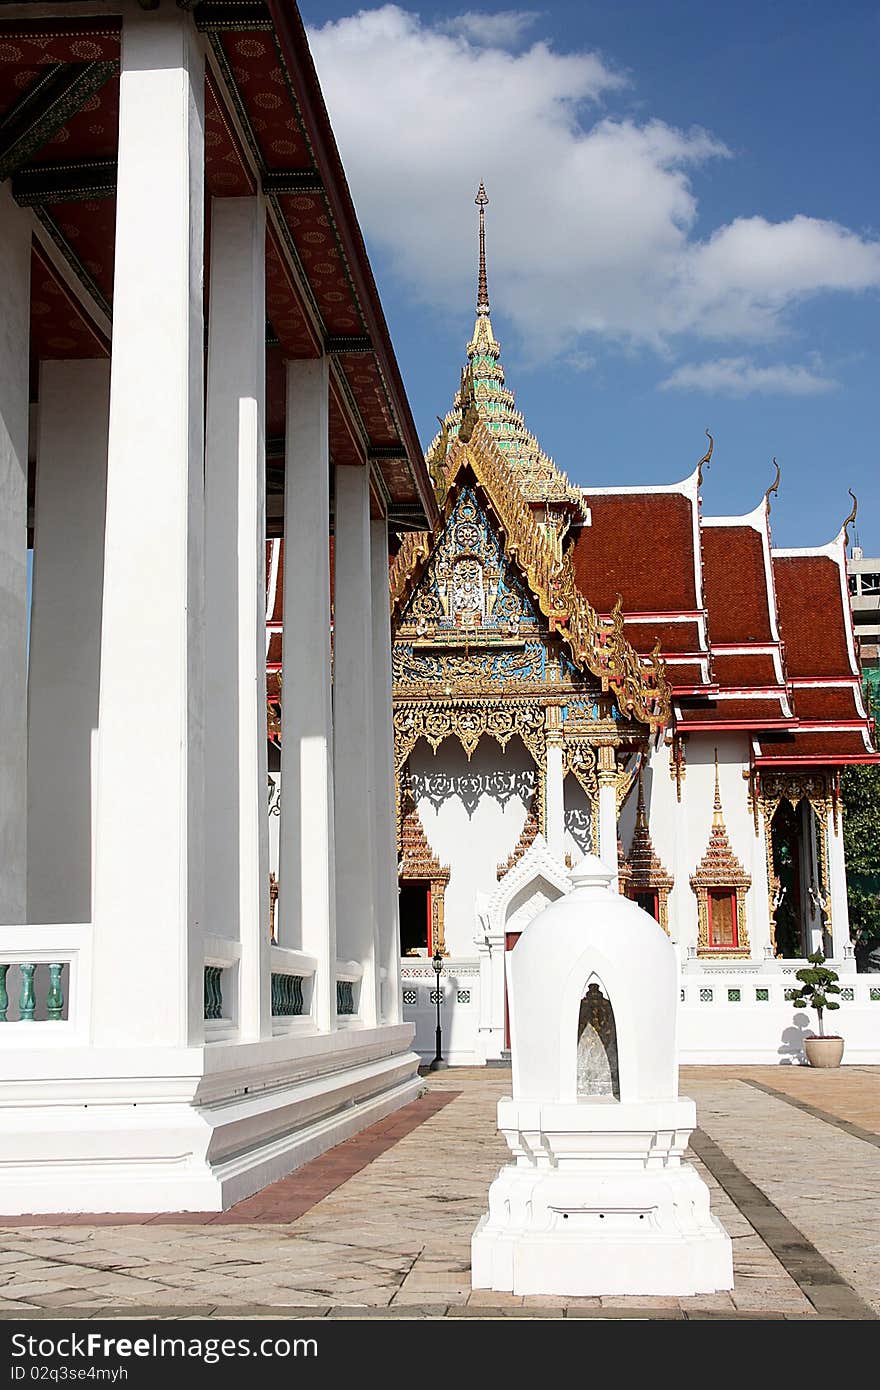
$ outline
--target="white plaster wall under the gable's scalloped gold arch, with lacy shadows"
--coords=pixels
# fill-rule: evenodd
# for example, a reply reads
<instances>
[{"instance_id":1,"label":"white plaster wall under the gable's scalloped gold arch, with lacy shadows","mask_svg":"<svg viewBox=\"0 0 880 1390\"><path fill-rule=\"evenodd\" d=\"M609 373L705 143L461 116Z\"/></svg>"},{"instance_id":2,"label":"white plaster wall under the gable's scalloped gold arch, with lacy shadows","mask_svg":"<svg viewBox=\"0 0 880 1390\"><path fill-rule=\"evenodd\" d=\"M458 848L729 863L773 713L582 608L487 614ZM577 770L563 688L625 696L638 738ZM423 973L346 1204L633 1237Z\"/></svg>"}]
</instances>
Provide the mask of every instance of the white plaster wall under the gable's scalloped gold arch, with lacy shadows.
<instances>
[{"instance_id":1,"label":"white plaster wall under the gable's scalloped gold arch, with lacy shadows","mask_svg":"<svg viewBox=\"0 0 880 1390\"><path fill-rule=\"evenodd\" d=\"M535 763L521 739L505 749L484 738L467 759L457 739L437 753L420 742L409 760L413 791L428 844L449 865L446 949L474 951L474 897L498 887L496 867L507 859L525 824L528 798L507 795L512 785L534 785Z\"/></svg>"}]
</instances>

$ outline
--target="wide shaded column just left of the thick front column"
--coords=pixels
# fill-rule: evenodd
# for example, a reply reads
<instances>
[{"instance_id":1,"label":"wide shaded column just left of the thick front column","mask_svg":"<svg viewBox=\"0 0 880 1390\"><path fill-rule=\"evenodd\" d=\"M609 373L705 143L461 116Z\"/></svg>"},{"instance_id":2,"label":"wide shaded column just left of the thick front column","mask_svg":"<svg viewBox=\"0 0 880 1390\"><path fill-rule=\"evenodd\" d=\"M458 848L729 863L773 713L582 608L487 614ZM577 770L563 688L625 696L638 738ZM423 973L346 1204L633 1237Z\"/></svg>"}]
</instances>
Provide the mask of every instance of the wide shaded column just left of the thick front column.
<instances>
[{"instance_id":1,"label":"wide shaded column just left of the thick front column","mask_svg":"<svg viewBox=\"0 0 880 1390\"><path fill-rule=\"evenodd\" d=\"M110 361L40 367L31 657L28 922L92 920Z\"/></svg>"}]
</instances>

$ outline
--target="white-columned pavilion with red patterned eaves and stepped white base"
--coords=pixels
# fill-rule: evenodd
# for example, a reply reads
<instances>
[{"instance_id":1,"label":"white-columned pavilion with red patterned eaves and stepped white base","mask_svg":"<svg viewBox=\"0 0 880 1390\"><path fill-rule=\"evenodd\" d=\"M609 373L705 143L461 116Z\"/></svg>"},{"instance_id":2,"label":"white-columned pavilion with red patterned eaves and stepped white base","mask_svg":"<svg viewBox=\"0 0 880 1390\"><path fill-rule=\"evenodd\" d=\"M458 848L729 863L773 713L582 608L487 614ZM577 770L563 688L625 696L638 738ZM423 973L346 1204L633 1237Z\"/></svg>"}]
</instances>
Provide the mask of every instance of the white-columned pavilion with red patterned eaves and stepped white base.
<instances>
[{"instance_id":1,"label":"white-columned pavilion with red patterned eaves and stepped white base","mask_svg":"<svg viewBox=\"0 0 880 1390\"><path fill-rule=\"evenodd\" d=\"M435 517L291 0L4 4L4 1213L217 1211L417 1094L388 532Z\"/></svg>"}]
</instances>

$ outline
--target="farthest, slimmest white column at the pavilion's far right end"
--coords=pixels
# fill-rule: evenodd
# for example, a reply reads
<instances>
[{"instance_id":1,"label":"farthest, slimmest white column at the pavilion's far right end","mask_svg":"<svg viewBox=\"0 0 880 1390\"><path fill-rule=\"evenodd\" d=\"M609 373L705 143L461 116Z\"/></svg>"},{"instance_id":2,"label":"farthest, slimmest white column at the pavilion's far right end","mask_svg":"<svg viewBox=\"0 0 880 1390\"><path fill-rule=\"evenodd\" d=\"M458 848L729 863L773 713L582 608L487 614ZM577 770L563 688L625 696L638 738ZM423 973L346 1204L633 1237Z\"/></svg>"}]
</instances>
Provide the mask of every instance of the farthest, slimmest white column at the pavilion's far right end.
<instances>
[{"instance_id":1,"label":"farthest, slimmest white column at the pavilion's far right end","mask_svg":"<svg viewBox=\"0 0 880 1390\"><path fill-rule=\"evenodd\" d=\"M386 1023L403 1017L400 997L400 922L398 898L398 835L395 817L395 751L391 695L391 600L388 587L388 523L370 523L373 562L373 727L375 766L375 922L380 1012Z\"/></svg>"}]
</instances>

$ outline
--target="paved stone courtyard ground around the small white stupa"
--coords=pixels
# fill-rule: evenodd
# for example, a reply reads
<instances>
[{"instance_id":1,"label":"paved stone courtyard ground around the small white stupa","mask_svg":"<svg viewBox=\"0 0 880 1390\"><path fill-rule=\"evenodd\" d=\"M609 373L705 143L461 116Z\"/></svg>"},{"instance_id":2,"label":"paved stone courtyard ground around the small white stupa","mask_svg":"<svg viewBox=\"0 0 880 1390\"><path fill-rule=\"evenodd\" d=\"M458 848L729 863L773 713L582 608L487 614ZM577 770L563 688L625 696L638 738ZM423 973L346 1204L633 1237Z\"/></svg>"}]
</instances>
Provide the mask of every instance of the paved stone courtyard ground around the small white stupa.
<instances>
[{"instance_id":1,"label":"paved stone courtyard ground around the small white stupa","mask_svg":"<svg viewBox=\"0 0 880 1390\"><path fill-rule=\"evenodd\" d=\"M502 1069L427 1095L222 1215L0 1218L0 1318L880 1316L880 1068L685 1068L694 1162L734 1243L733 1293L471 1291L506 1161Z\"/></svg>"}]
</instances>

